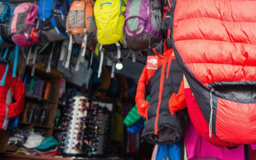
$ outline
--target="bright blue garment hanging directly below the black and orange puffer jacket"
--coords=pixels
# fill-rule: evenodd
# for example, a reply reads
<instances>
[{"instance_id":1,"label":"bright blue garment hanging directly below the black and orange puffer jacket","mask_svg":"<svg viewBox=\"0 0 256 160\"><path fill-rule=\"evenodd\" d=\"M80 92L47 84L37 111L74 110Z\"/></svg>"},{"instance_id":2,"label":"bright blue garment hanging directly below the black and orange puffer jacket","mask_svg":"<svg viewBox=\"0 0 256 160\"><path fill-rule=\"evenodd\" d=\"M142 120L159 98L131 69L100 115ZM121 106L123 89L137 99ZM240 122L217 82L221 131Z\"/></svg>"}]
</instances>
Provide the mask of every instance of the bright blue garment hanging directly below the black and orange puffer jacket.
<instances>
[{"instance_id":1,"label":"bright blue garment hanging directly below the black and orange puffer jacket","mask_svg":"<svg viewBox=\"0 0 256 160\"><path fill-rule=\"evenodd\" d=\"M159 144L156 160L163 160L165 157L168 157L170 160L180 160L180 142Z\"/></svg>"}]
</instances>

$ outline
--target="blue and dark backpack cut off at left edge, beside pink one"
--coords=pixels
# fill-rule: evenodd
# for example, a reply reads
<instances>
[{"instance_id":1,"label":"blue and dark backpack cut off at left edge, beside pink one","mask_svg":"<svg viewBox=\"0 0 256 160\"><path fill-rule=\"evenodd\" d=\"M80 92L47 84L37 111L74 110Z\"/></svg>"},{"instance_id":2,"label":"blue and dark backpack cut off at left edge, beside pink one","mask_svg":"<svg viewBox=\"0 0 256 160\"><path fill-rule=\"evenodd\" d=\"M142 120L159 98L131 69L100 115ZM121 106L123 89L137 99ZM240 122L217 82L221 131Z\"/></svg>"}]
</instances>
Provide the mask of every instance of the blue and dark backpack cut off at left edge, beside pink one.
<instances>
[{"instance_id":1,"label":"blue and dark backpack cut off at left edge, beside pink one","mask_svg":"<svg viewBox=\"0 0 256 160\"><path fill-rule=\"evenodd\" d=\"M9 25L15 6L9 2L0 2L0 47L7 48L14 46Z\"/></svg>"}]
</instances>

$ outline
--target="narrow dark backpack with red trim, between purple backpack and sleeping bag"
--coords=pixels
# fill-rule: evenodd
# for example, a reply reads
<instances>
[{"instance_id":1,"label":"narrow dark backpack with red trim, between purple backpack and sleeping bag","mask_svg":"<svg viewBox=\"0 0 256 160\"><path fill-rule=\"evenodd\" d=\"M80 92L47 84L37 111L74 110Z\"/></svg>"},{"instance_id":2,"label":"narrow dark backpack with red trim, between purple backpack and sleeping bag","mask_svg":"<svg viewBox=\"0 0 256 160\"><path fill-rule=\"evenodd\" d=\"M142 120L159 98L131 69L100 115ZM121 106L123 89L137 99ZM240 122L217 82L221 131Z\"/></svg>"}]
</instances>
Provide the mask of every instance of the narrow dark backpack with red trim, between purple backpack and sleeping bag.
<instances>
[{"instance_id":1,"label":"narrow dark backpack with red trim, between purple backpack and sleeping bag","mask_svg":"<svg viewBox=\"0 0 256 160\"><path fill-rule=\"evenodd\" d=\"M165 38L170 39L173 14L175 8L176 0L164 0L162 1L163 5L163 18L161 23L161 29ZM171 46L167 46L170 48Z\"/></svg>"}]
</instances>

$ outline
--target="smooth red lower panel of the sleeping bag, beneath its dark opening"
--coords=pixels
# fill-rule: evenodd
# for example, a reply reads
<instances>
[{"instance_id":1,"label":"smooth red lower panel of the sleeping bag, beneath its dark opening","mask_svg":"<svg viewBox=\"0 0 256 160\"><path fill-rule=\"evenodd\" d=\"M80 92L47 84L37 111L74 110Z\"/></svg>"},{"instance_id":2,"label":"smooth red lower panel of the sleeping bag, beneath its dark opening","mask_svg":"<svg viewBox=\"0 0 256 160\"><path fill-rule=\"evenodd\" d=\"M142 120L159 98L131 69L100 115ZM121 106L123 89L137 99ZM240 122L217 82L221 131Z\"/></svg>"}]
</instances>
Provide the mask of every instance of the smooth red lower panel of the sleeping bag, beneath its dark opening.
<instances>
[{"instance_id":1,"label":"smooth red lower panel of the sleeping bag, beneath its dark opening","mask_svg":"<svg viewBox=\"0 0 256 160\"><path fill-rule=\"evenodd\" d=\"M219 98L216 135L221 140L230 142L254 143L256 141L256 104L237 103Z\"/></svg>"}]
</instances>

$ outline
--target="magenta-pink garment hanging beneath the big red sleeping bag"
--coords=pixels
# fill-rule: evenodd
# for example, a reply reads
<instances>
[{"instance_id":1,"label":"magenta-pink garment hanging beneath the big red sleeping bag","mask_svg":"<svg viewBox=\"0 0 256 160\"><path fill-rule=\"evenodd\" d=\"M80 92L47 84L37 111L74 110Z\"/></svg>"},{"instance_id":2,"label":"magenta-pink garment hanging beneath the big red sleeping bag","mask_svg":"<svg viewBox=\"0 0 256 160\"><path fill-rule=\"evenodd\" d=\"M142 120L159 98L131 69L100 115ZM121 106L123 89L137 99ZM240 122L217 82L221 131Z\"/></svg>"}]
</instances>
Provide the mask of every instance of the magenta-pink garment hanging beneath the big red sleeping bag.
<instances>
[{"instance_id":1,"label":"magenta-pink garment hanging beneath the big red sleeping bag","mask_svg":"<svg viewBox=\"0 0 256 160\"><path fill-rule=\"evenodd\" d=\"M184 135L188 160L244 160L244 146L218 148L204 140L189 121Z\"/></svg>"}]
</instances>

